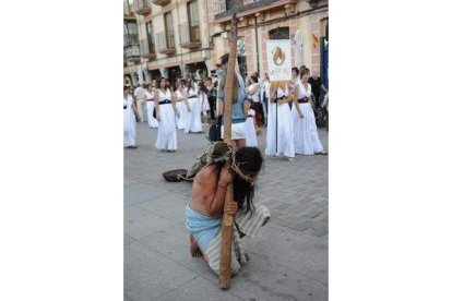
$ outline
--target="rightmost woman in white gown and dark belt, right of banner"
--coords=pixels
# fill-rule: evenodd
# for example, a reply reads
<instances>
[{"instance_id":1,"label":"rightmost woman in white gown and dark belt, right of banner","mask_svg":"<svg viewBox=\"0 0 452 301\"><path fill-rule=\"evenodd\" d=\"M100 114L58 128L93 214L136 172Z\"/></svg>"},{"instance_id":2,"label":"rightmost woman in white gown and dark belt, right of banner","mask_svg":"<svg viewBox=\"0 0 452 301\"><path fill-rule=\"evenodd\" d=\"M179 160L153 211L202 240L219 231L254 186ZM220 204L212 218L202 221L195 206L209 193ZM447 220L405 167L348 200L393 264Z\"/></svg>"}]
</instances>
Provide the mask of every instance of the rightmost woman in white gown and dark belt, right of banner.
<instances>
[{"instance_id":1,"label":"rightmost woman in white gown and dark belt, right of banner","mask_svg":"<svg viewBox=\"0 0 452 301\"><path fill-rule=\"evenodd\" d=\"M309 69L304 69L300 75L301 82L295 88L297 101L295 101L292 108L295 153L301 155L326 155L319 140L316 117L309 103L312 94L311 85L308 83Z\"/></svg>"}]
</instances>

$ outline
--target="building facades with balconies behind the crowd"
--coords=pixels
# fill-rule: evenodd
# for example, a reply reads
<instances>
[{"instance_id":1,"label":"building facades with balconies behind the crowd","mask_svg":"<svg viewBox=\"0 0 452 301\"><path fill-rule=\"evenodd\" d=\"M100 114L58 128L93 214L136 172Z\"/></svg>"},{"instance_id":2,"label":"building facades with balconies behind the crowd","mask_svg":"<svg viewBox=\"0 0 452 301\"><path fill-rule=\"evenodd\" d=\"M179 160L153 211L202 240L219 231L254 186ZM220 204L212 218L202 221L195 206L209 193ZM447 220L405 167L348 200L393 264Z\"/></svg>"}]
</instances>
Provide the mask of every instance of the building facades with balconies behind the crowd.
<instances>
[{"instance_id":1,"label":"building facades with balconies behind the crowd","mask_svg":"<svg viewBox=\"0 0 452 301\"><path fill-rule=\"evenodd\" d=\"M328 85L328 0L124 0L124 81L210 74L228 52L236 12L242 75L267 71L269 39L290 39L292 64L318 70Z\"/></svg>"}]
</instances>

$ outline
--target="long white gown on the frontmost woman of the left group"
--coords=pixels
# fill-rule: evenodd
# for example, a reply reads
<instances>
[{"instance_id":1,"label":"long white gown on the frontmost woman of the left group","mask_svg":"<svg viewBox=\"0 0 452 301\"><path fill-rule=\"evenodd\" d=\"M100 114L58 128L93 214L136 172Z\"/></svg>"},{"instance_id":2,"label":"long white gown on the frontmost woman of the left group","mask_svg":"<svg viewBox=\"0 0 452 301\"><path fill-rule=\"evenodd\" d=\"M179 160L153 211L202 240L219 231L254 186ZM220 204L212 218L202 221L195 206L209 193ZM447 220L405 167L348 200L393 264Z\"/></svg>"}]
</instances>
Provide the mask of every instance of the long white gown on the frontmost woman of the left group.
<instances>
[{"instance_id":1,"label":"long white gown on the frontmost woman of the left group","mask_svg":"<svg viewBox=\"0 0 452 301\"><path fill-rule=\"evenodd\" d=\"M155 99L157 100L157 99ZM158 89L158 101L171 101L171 92L163 93ZM177 149L176 115L171 104L159 105L160 121L158 122L158 134L155 147L160 150Z\"/></svg>"}]
</instances>

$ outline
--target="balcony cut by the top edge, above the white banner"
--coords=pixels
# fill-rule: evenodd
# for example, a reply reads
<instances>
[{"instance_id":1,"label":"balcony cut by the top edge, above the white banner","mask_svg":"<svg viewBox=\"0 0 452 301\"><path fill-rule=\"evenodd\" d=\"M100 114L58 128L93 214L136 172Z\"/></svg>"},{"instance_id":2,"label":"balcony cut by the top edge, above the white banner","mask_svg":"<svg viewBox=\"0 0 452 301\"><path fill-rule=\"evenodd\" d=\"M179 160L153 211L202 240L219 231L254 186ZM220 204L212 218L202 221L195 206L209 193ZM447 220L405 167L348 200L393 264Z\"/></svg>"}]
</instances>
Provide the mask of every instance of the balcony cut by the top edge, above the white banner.
<instances>
[{"instance_id":1,"label":"balcony cut by the top edge, above the white banner","mask_svg":"<svg viewBox=\"0 0 452 301\"><path fill-rule=\"evenodd\" d=\"M259 16L264 21L266 12L285 10L286 14L295 13L297 0L216 0L214 3L215 22L229 23L233 13L237 13L239 21Z\"/></svg>"}]
</instances>

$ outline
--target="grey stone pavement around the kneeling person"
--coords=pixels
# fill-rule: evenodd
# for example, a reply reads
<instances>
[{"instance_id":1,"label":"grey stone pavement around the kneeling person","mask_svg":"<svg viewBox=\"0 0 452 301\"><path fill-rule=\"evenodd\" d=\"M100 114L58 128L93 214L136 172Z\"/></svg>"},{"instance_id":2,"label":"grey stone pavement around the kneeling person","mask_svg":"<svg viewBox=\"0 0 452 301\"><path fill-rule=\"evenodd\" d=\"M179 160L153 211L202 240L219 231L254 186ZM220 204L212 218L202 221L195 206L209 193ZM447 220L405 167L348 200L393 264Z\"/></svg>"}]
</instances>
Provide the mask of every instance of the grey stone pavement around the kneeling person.
<instances>
[{"instance_id":1,"label":"grey stone pavement around the kneeling person","mask_svg":"<svg viewBox=\"0 0 452 301\"><path fill-rule=\"evenodd\" d=\"M319 134L328 150L328 133ZM251 261L224 291L188 252L191 183L162 177L190 167L209 142L178 131L178 150L159 153L156 136L156 129L139 123L139 148L124 149L124 300L328 300L328 156L265 158L255 200L272 218L254 239L245 239Z\"/></svg>"}]
</instances>

